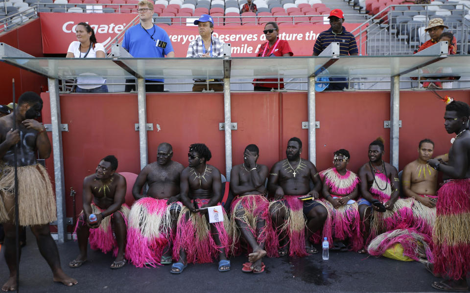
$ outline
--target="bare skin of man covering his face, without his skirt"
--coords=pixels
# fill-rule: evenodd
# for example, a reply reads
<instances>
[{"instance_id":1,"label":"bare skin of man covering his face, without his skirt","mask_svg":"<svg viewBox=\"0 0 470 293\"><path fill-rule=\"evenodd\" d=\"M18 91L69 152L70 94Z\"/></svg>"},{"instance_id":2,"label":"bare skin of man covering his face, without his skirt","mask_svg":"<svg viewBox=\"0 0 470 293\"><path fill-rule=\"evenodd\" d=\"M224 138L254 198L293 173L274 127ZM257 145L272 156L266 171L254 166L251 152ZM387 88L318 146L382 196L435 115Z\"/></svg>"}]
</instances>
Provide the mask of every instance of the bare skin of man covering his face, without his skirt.
<instances>
[{"instance_id":1,"label":"bare skin of man covering his face, without his skirt","mask_svg":"<svg viewBox=\"0 0 470 293\"><path fill-rule=\"evenodd\" d=\"M268 167L266 165L257 164L259 154L245 150L243 153L244 162L241 165L236 165L232 168L230 178L230 189L239 196L261 194L266 195L267 191L264 187L264 182L268 176ZM248 170L248 171L247 171ZM240 211L243 216L244 211ZM257 243L255 235L250 231L246 223L235 220L240 228L243 238L253 248L253 253L249 255L249 262L253 263L251 267L253 271L261 271L262 258L266 255L264 250L264 243ZM265 221L257 220L257 233L261 232L261 228L266 225ZM257 235L258 236L258 235Z\"/></svg>"}]
</instances>

